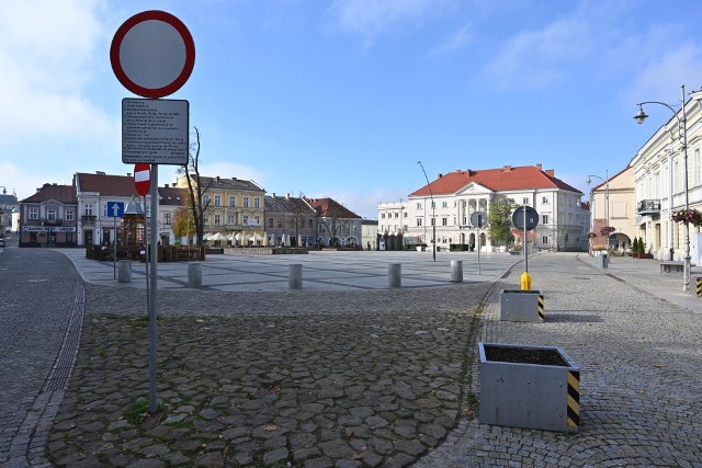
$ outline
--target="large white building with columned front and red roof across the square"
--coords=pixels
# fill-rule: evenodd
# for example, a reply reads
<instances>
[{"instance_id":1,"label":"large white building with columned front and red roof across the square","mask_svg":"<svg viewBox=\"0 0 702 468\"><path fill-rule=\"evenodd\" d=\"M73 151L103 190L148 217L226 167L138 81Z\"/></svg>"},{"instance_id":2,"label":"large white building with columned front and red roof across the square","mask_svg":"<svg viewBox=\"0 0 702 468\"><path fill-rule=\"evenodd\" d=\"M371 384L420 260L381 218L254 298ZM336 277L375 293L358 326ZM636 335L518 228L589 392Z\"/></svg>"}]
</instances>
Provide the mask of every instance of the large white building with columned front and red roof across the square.
<instances>
[{"instance_id":1,"label":"large white building with columned front and red roof across the square","mask_svg":"<svg viewBox=\"0 0 702 468\"><path fill-rule=\"evenodd\" d=\"M440 249L451 244L477 244L494 250L488 228L471 224L476 212L489 216L497 196L505 196L516 207L529 205L539 213L539 226L530 237L536 249L582 251L587 249L589 213L582 209L582 193L555 178L541 164L501 169L457 170L411 193L407 203L378 205L381 233L394 233L401 226L406 237L430 244L435 222ZM433 203L433 206L432 206ZM401 219L403 222L397 220Z\"/></svg>"}]
</instances>

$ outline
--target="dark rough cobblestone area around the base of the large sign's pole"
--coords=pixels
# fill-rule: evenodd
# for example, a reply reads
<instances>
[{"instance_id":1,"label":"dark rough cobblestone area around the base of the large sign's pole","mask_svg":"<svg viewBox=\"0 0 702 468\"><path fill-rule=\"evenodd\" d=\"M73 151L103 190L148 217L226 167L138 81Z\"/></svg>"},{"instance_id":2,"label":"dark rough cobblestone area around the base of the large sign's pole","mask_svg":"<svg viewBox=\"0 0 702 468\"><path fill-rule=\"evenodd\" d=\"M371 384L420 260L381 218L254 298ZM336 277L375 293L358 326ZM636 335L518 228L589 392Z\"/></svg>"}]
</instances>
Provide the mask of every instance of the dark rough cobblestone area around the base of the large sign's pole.
<instances>
[{"instance_id":1,"label":"dark rough cobblestone area around the base of the large sign's pole","mask_svg":"<svg viewBox=\"0 0 702 468\"><path fill-rule=\"evenodd\" d=\"M146 297L87 285L80 356L48 457L407 466L461 416L474 310L489 287L160 295L160 410L135 423L128 412L148 396Z\"/></svg>"}]
</instances>

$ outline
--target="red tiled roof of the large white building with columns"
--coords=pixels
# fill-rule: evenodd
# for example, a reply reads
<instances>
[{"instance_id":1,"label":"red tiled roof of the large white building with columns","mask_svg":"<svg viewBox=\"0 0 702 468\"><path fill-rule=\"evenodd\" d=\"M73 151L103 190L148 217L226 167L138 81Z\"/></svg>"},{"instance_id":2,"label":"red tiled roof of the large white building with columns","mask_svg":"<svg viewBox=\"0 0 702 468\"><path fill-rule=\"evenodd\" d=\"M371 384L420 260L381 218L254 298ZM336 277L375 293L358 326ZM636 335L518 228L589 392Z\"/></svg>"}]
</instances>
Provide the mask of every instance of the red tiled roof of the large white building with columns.
<instances>
[{"instance_id":1,"label":"red tiled roof of the large white building with columns","mask_svg":"<svg viewBox=\"0 0 702 468\"><path fill-rule=\"evenodd\" d=\"M536 165L521 165L512 168L506 165L500 169L457 170L440 175L429 185L424 185L409 196L454 194L472 183L480 184L494 192L529 189L561 189L569 192L582 193L553 175L553 170L542 171ZM431 190L429 189L431 186Z\"/></svg>"}]
</instances>

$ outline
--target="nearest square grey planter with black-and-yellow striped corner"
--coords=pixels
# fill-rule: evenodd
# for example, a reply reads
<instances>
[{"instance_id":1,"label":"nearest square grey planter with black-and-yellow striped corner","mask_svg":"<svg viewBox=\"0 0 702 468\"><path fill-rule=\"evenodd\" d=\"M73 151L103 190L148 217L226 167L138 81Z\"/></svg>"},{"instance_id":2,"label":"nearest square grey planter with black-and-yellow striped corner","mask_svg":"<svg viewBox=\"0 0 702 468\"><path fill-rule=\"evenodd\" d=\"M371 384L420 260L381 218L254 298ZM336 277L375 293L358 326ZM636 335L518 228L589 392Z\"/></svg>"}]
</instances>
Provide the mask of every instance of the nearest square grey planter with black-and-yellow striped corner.
<instances>
[{"instance_id":1,"label":"nearest square grey planter with black-and-yellow striped corner","mask_svg":"<svg viewBox=\"0 0 702 468\"><path fill-rule=\"evenodd\" d=\"M480 424L577 432L580 368L559 347L478 343Z\"/></svg>"}]
</instances>

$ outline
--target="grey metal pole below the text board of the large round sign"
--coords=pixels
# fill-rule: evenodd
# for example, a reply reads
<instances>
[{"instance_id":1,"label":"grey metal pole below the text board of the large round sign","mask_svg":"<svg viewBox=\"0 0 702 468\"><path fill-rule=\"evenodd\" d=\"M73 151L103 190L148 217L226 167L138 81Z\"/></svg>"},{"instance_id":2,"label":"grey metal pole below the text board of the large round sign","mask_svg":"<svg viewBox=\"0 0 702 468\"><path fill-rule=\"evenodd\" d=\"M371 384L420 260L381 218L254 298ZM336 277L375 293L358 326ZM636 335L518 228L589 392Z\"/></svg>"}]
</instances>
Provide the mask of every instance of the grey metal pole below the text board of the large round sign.
<instances>
[{"instance_id":1,"label":"grey metal pole below the text board of the large round sign","mask_svg":"<svg viewBox=\"0 0 702 468\"><path fill-rule=\"evenodd\" d=\"M158 401L156 398L156 343L158 338L158 328L156 319L158 317L156 309L156 296L158 287L158 164L151 164L151 274L150 274L150 295L149 295L149 411L151 414L158 410Z\"/></svg>"}]
</instances>

